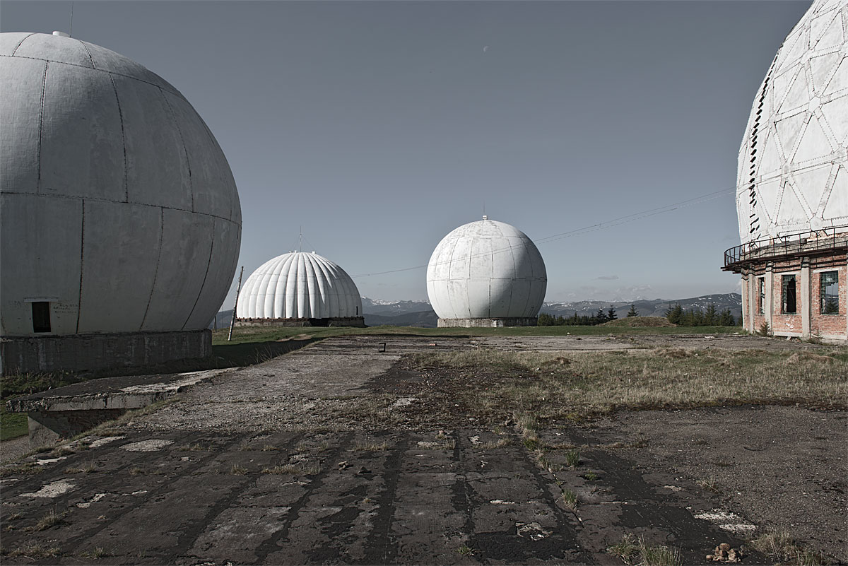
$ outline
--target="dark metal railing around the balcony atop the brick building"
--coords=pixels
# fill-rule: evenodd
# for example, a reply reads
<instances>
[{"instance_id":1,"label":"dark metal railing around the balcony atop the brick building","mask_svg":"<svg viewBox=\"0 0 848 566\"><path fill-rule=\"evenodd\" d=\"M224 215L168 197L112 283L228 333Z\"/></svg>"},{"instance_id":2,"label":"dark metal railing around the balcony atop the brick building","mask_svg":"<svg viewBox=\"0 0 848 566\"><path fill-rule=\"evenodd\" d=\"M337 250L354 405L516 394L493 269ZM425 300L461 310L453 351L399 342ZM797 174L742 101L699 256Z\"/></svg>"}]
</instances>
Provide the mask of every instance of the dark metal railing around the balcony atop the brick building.
<instances>
[{"instance_id":1,"label":"dark metal railing around the balcony atop the brick building","mask_svg":"<svg viewBox=\"0 0 848 566\"><path fill-rule=\"evenodd\" d=\"M828 250L848 249L848 225L828 226L821 230L808 230L784 236L763 238L734 246L724 252L725 271L734 271L744 264L762 259L796 256L801 253L819 253Z\"/></svg>"}]
</instances>

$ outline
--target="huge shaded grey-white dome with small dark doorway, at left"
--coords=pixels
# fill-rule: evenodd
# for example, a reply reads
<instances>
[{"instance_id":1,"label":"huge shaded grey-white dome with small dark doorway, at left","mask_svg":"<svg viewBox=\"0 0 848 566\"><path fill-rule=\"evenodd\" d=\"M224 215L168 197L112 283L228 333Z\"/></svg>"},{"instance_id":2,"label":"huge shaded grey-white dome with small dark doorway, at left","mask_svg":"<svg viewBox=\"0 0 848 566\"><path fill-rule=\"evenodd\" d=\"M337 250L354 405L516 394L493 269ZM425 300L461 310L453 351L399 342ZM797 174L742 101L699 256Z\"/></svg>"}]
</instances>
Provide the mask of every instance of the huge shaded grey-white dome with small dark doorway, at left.
<instances>
[{"instance_id":1,"label":"huge shaded grey-white dome with small dark doorway, at left","mask_svg":"<svg viewBox=\"0 0 848 566\"><path fill-rule=\"evenodd\" d=\"M236 184L176 88L67 36L0 34L2 333L204 329L241 237Z\"/></svg>"}]
</instances>

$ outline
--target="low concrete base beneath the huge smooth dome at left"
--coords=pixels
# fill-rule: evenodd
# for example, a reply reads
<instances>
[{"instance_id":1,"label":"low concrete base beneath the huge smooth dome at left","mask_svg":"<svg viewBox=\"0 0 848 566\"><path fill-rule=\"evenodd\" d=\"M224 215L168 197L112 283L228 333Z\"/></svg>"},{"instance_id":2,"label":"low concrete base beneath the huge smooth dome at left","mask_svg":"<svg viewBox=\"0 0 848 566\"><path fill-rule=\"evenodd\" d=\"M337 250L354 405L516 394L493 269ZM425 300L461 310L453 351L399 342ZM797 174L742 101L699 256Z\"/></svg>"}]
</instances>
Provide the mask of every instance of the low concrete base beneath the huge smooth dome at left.
<instances>
[{"instance_id":1,"label":"low concrete base beneath the huge smooth dome at left","mask_svg":"<svg viewBox=\"0 0 848 566\"><path fill-rule=\"evenodd\" d=\"M142 368L212 353L211 330L3 336L3 375L92 369Z\"/></svg>"}]
</instances>

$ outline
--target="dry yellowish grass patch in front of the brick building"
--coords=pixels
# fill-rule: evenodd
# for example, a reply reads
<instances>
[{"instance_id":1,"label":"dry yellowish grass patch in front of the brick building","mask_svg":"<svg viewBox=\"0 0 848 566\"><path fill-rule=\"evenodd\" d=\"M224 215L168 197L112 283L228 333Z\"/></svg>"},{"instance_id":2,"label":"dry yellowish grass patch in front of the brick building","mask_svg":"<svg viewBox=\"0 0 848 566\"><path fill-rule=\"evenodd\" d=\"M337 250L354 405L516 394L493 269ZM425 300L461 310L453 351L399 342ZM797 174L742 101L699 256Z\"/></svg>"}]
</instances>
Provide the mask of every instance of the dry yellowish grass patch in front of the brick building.
<instances>
[{"instance_id":1,"label":"dry yellowish grass patch in front of the brick building","mask_svg":"<svg viewBox=\"0 0 848 566\"><path fill-rule=\"evenodd\" d=\"M466 401L485 413L585 419L616 408L727 404L848 405L848 350L814 352L683 350L501 352L416 356L420 369L497 375Z\"/></svg>"}]
</instances>

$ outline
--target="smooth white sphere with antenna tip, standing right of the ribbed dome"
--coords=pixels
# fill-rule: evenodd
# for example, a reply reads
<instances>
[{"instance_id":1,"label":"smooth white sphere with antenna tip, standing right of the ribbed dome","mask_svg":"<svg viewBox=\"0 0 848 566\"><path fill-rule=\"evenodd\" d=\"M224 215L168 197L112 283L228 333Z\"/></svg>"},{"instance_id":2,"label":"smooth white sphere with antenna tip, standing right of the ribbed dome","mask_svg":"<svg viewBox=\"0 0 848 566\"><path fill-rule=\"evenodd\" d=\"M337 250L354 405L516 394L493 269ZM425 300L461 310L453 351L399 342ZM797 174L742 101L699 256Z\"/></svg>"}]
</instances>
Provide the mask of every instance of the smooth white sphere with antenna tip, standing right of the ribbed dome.
<instances>
[{"instance_id":1,"label":"smooth white sphere with antenna tip, standing right of the ribbed dome","mask_svg":"<svg viewBox=\"0 0 848 566\"><path fill-rule=\"evenodd\" d=\"M444 236L427 265L427 295L440 319L532 318L547 286L533 241L485 217Z\"/></svg>"}]
</instances>

